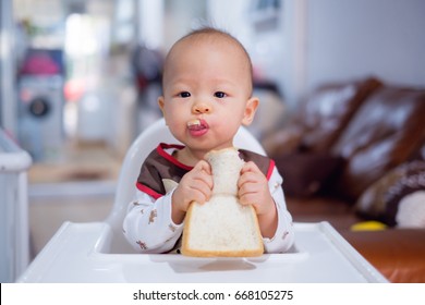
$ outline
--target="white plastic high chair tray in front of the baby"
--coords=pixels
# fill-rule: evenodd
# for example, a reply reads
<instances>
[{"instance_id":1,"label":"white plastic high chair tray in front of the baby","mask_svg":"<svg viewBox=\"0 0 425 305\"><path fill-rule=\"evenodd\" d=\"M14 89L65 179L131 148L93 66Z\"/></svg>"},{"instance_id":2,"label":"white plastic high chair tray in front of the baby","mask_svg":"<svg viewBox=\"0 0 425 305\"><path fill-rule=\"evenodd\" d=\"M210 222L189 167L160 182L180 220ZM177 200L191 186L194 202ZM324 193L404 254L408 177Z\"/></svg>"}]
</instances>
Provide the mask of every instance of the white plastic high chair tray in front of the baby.
<instances>
[{"instance_id":1,"label":"white plastic high chair tray in front of the baby","mask_svg":"<svg viewBox=\"0 0 425 305\"><path fill-rule=\"evenodd\" d=\"M387 282L328 223L295 223L286 254L195 258L110 254L109 224L64 223L19 282Z\"/></svg>"}]
</instances>

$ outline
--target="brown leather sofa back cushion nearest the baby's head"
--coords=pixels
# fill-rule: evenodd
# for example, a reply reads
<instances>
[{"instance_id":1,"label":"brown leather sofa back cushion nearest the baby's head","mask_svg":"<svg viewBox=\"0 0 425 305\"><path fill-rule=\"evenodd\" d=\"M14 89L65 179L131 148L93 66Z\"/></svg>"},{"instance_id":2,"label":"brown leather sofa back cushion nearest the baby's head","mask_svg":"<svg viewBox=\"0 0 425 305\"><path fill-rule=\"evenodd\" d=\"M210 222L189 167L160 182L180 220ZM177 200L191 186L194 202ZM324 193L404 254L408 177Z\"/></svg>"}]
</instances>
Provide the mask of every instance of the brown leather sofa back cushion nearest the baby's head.
<instances>
[{"instance_id":1,"label":"brown leather sofa back cushion nearest the baby's head","mask_svg":"<svg viewBox=\"0 0 425 305\"><path fill-rule=\"evenodd\" d=\"M272 158L296 151L328 151L362 102L381 83L367 78L324 85L309 94L293 119L262 139Z\"/></svg>"}]
</instances>

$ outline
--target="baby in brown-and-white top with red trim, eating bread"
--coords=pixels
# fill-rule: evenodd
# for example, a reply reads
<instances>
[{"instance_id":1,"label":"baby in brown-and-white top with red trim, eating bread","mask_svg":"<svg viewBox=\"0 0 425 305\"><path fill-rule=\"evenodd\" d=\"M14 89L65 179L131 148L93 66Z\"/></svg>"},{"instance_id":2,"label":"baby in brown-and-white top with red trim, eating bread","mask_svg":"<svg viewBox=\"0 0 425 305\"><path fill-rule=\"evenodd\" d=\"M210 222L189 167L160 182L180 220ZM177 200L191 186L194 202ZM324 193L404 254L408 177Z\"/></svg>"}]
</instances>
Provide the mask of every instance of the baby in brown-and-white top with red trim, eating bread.
<instances>
[{"instance_id":1,"label":"baby in brown-and-white top with red trim, eating bread","mask_svg":"<svg viewBox=\"0 0 425 305\"><path fill-rule=\"evenodd\" d=\"M159 144L141 169L137 198L129 206L123 229L142 253L180 248L184 217L192 202L208 202L212 175L204 156L233 147L241 125L254 119L259 100L253 97L252 63L231 35L203 28L178 40L169 51L158 98L172 135L184 144ZM253 205L265 251L280 253L293 244L282 178L275 162L248 150L238 181L242 205Z\"/></svg>"}]
</instances>

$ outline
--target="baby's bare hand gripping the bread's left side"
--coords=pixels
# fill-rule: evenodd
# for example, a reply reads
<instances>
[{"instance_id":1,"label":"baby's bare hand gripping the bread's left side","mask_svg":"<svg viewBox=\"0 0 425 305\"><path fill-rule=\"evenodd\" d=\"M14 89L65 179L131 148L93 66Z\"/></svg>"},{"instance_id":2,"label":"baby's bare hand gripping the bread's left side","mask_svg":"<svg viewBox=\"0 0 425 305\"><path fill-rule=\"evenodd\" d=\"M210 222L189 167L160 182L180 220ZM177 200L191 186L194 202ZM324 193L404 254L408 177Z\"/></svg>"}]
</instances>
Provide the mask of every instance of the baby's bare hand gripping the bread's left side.
<instances>
[{"instance_id":1,"label":"baby's bare hand gripping the bread's left side","mask_svg":"<svg viewBox=\"0 0 425 305\"><path fill-rule=\"evenodd\" d=\"M183 175L179 186L172 194L173 210L183 213L184 218L184 213L192 202L204 204L209 200L212 185L211 168L207 161L201 160L190 172Z\"/></svg>"}]
</instances>

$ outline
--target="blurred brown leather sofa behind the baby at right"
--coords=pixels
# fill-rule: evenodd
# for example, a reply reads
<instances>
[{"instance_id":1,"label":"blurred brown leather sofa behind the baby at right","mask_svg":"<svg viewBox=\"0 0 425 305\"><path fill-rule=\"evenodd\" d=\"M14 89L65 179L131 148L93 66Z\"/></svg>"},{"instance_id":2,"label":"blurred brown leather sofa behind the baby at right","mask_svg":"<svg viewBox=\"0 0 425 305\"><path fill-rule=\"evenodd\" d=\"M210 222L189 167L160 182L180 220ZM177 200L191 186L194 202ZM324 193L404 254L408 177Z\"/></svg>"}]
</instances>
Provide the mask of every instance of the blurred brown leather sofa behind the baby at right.
<instances>
[{"instance_id":1,"label":"blurred brown leather sofa behind the baby at right","mask_svg":"<svg viewBox=\"0 0 425 305\"><path fill-rule=\"evenodd\" d=\"M425 228L397 222L402 199L425 190L425 88L321 86L263 145L294 221L329 221L391 282L425 282Z\"/></svg>"}]
</instances>

